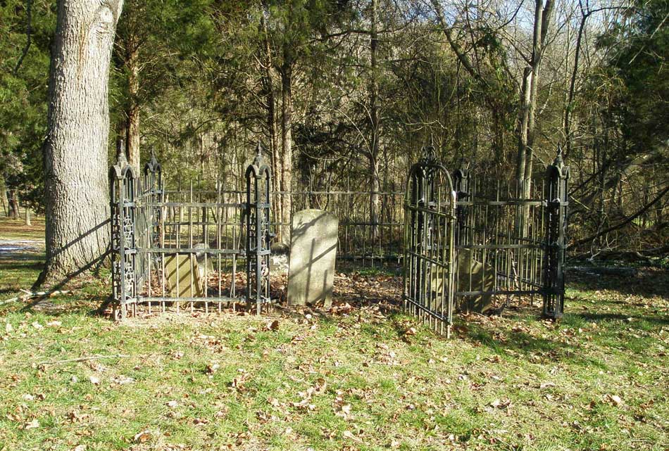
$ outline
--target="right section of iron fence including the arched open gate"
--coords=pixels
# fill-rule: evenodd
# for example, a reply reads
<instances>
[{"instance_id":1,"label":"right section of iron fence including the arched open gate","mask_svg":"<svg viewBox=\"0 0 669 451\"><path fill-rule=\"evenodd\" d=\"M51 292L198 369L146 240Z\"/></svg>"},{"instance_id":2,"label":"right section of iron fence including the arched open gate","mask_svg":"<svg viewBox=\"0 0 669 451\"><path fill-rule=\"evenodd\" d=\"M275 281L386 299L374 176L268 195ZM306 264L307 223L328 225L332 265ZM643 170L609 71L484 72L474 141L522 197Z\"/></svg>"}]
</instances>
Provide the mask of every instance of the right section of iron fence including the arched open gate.
<instances>
[{"instance_id":1,"label":"right section of iron fence including the arched open gate","mask_svg":"<svg viewBox=\"0 0 669 451\"><path fill-rule=\"evenodd\" d=\"M453 312L484 312L500 296L542 296L563 315L569 168L561 154L529 196L496 174L449 172L434 148L411 167L405 197L404 306L450 335ZM525 190L525 192L528 192Z\"/></svg>"}]
</instances>

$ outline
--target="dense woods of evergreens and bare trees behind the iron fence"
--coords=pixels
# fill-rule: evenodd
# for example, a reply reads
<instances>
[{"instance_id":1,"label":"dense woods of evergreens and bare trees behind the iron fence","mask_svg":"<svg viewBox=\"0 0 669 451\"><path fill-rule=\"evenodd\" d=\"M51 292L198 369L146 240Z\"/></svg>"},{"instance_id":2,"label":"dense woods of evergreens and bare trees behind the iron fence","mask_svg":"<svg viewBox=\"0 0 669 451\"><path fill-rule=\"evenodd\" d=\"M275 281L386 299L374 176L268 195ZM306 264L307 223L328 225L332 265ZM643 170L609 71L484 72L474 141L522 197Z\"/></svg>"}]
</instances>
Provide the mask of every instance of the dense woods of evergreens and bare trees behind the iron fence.
<instances>
[{"instance_id":1,"label":"dense woods of evergreens and bare trees behind the iron fence","mask_svg":"<svg viewBox=\"0 0 669 451\"><path fill-rule=\"evenodd\" d=\"M57 12L0 3L1 183L38 212ZM135 167L154 151L165 173L212 185L240 181L260 139L275 191L365 190L370 222L376 193L403 190L430 141L448 167L525 195L561 148L573 248L658 253L668 14L667 0L127 0L107 61L111 133L96 136L108 160L121 136Z\"/></svg>"}]
</instances>

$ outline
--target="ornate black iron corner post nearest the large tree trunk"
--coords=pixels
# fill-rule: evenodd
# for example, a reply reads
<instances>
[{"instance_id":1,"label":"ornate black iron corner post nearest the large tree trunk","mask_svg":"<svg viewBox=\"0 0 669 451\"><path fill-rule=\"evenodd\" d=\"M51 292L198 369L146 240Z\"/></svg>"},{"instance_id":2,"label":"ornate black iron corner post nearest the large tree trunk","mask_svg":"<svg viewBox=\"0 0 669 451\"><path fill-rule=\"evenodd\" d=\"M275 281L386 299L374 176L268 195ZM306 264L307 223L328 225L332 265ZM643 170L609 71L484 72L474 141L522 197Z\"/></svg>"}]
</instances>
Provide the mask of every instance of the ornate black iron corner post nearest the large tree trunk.
<instances>
[{"instance_id":1,"label":"ornate black iron corner post nearest the large tree trunk","mask_svg":"<svg viewBox=\"0 0 669 451\"><path fill-rule=\"evenodd\" d=\"M127 163L120 141L118 162L109 170L111 207L111 276L115 319L127 317L128 305L137 303L135 258L135 192L137 174Z\"/></svg>"}]
</instances>

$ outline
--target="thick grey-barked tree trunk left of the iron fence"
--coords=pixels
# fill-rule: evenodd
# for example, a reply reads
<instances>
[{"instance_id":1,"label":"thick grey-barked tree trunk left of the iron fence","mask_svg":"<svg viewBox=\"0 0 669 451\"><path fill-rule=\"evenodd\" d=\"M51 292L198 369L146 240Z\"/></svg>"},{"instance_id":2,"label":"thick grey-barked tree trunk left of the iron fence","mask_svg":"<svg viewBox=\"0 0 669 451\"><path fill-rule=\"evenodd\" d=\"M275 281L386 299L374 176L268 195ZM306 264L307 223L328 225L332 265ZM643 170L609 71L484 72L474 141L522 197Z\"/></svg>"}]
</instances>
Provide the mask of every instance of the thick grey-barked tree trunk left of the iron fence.
<instances>
[{"instance_id":1,"label":"thick grey-barked tree trunk left of the iron fence","mask_svg":"<svg viewBox=\"0 0 669 451\"><path fill-rule=\"evenodd\" d=\"M60 284L104 257L111 49L123 0L58 1L44 141L46 262L35 285Z\"/></svg>"}]
</instances>

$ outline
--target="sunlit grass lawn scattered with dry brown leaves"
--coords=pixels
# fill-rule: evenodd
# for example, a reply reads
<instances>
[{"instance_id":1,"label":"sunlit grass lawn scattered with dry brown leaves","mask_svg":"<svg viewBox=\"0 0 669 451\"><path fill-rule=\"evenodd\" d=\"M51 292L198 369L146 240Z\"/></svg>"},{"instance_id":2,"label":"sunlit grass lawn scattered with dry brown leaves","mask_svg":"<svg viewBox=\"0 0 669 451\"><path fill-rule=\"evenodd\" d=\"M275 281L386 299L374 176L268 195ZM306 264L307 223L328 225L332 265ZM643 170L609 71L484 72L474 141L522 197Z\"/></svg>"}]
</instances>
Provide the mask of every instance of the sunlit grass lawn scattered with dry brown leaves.
<instances>
[{"instance_id":1,"label":"sunlit grass lawn scattered with dry brown leaves","mask_svg":"<svg viewBox=\"0 0 669 451\"><path fill-rule=\"evenodd\" d=\"M0 300L41 261L0 255ZM669 449L666 271L572 277L558 324L523 305L451 340L413 334L396 277L337 280L369 302L114 324L90 279L0 305L0 450Z\"/></svg>"}]
</instances>

